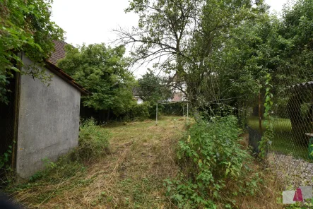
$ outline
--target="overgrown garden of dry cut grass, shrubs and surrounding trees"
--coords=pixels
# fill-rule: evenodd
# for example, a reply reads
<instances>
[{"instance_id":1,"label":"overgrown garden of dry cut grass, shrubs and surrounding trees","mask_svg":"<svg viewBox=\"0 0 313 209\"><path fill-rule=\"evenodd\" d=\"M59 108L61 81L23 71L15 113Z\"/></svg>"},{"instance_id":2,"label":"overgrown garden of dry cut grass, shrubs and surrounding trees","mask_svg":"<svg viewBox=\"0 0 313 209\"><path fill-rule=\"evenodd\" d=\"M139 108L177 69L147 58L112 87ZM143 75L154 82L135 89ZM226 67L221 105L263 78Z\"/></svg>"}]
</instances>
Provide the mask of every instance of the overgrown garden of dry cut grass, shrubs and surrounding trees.
<instances>
[{"instance_id":1,"label":"overgrown garden of dry cut grass, shrubs and surrounding trees","mask_svg":"<svg viewBox=\"0 0 313 209\"><path fill-rule=\"evenodd\" d=\"M63 30L49 21L49 1L0 5L6 102L20 61L11 49L42 62L53 48L47 39L62 38ZM271 145L310 159L313 1L286 5L280 16L262 0L131 0L125 11L138 14L138 27L117 30L116 46L68 45L58 63L93 93L82 104L98 121L82 122L71 154L45 160L47 169L28 182L6 182L6 191L34 208L282 208L279 181L264 161ZM138 63L153 63L153 70L136 80L129 66ZM191 123L184 113L158 126L148 120L177 91ZM166 105L159 110L170 114ZM103 121L109 124L99 126ZM259 131L256 153L247 146L247 126Z\"/></svg>"}]
</instances>

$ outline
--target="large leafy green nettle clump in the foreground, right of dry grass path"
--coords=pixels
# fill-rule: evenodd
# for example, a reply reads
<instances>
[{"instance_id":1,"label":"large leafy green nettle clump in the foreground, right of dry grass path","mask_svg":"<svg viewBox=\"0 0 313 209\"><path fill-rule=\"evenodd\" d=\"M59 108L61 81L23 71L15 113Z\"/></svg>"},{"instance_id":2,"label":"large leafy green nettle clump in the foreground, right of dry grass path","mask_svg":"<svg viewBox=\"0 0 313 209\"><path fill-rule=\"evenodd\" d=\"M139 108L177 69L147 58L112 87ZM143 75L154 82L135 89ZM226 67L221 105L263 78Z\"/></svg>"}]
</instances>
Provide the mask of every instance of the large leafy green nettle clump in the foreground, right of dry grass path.
<instances>
[{"instance_id":1,"label":"large leafy green nettle clump in the foreground, right of dry grass path","mask_svg":"<svg viewBox=\"0 0 313 209\"><path fill-rule=\"evenodd\" d=\"M239 143L233 116L202 121L179 141L182 172L166 180L167 196L178 208L236 207L236 196L254 195L261 179L252 174L252 157Z\"/></svg>"}]
</instances>

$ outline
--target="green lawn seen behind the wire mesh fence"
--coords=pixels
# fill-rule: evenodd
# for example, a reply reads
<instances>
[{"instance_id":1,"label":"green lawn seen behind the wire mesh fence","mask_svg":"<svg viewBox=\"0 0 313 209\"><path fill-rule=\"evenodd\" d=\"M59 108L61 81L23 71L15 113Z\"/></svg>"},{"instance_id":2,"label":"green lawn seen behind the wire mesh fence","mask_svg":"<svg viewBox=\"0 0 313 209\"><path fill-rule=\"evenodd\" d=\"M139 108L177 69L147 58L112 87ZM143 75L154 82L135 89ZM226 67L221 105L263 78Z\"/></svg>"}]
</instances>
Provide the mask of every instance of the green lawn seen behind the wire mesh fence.
<instances>
[{"instance_id":1,"label":"green lawn seen behind the wire mesh fence","mask_svg":"<svg viewBox=\"0 0 313 209\"><path fill-rule=\"evenodd\" d=\"M254 130L259 130L258 117L249 118L248 125ZM262 131L266 131L265 120L262 121ZM272 144L270 145L270 150L309 160L308 148L305 148L303 145L295 142L290 119L274 118L273 131L274 138Z\"/></svg>"}]
</instances>

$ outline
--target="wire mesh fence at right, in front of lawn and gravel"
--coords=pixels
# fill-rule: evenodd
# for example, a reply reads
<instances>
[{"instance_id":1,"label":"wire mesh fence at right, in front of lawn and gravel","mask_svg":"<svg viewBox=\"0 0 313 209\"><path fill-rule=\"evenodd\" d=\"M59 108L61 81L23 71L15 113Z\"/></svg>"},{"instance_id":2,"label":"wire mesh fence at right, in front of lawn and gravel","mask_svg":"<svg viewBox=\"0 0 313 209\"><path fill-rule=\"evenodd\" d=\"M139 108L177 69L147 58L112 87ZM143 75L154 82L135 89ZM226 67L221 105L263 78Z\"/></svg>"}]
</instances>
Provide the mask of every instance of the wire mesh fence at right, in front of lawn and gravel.
<instances>
[{"instance_id":1,"label":"wire mesh fence at right, in front of lawn and gravel","mask_svg":"<svg viewBox=\"0 0 313 209\"><path fill-rule=\"evenodd\" d=\"M268 142L268 162L287 184L312 184L313 177L313 76L286 69L272 73L273 107L264 117L265 97L249 108L247 130L254 153L271 120L273 137ZM265 95L265 90L260 92Z\"/></svg>"}]
</instances>

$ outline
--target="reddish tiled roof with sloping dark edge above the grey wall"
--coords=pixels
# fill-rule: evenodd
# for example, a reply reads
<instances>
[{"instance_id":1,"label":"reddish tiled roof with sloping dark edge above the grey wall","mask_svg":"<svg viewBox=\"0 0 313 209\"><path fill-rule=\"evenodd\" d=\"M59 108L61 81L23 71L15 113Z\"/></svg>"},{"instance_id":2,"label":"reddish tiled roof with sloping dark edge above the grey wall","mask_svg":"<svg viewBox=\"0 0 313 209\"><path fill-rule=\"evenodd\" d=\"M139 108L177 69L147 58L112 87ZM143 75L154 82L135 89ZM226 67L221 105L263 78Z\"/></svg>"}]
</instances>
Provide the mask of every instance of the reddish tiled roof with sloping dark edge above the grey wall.
<instances>
[{"instance_id":1,"label":"reddish tiled roof with sloping dark edge above the grey wall","mask_svg":"<svg viewBox=\"0 0 313 209\"><path fill-rule=\"evenodd\" d=\"M55 51L52 53L49 59L45 61L45 66L50 71L55 73L57 76L65 80L67 83L69 83L70 85L73 85L73 87L81 91L83 95L89 95L90 92L88 90L86 90L85 88L83 88L83 86L76 83L76 81L73 78L71 78L71 76L66 74L64 71L62 71L61 68L57 66L57 61L59 61L59 59L64 59L65 57L65 45L67 43L61 40L53 40L53 42L54 42Z\"/></svg>"}]
</instances>

